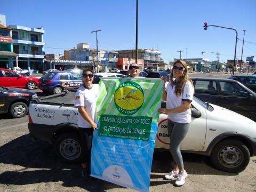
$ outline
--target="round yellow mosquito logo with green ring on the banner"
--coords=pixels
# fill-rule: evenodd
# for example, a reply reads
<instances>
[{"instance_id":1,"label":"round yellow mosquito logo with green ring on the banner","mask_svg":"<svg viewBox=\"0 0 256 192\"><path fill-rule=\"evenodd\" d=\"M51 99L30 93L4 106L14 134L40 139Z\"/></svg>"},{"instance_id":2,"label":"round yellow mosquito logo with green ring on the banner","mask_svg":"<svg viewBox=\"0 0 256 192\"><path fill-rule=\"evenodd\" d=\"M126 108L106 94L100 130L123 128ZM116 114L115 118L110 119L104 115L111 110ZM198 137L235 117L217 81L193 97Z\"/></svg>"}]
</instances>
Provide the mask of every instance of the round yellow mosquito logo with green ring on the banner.
<instances>
[{"instance_id":1,"label":"round yellow mosquito logo with green ring on the banner","mask_svg":"<svg viewBox=\"0 0 256 192\"><path fill-rule=\"evenodd\" d=\"M138 83L129 81L117 87L114 99L120 113L133 115L140 110L144 102L144 93Z\"/></svg>"}]
</instances>

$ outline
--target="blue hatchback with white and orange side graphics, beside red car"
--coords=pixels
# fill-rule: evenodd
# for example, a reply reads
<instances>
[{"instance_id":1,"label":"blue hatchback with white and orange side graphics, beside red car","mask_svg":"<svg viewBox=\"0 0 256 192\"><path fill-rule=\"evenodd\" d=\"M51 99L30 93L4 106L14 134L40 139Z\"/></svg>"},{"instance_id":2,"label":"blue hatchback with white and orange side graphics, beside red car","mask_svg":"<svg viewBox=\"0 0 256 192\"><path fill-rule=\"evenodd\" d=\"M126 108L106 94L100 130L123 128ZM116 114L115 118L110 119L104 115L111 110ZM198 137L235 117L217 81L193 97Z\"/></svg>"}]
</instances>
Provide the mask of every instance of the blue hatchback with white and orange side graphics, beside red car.
<instances>
[{"instance_id":1,"label":"blue hatchback with white and orange side graphics, beside red car","mask_svg":"<svg viewBox=\"0 0 256 192\"><path fill-rule=\"evenodd\" d=\"M46 93L57 94L64 90L77 90L82 81L83 77L74 72L49 72L39 78L38 88Z\"/></svg>"}]
</instances>

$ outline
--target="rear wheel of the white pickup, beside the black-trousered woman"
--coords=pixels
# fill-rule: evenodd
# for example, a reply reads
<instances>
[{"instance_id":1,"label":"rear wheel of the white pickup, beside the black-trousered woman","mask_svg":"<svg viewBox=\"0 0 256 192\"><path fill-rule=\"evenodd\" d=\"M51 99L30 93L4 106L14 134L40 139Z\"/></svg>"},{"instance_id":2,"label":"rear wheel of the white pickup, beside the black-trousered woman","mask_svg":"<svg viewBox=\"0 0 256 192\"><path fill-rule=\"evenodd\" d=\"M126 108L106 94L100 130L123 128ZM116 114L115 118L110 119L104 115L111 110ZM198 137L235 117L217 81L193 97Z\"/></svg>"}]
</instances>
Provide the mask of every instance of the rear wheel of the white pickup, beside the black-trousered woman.
<instances>
[{"instance_id":1,"label":"rear wheel of the white pickup, beside the black-trousered woman","mask_svg":"<svg viewBox=\"0 0 256 192\"><path fill-rule=\"evenodd\" d=\"M81 139L78 134L61 134L55 142L55 153L65 163L79 163L81 159Z\"/></svg>"}]
</instances>

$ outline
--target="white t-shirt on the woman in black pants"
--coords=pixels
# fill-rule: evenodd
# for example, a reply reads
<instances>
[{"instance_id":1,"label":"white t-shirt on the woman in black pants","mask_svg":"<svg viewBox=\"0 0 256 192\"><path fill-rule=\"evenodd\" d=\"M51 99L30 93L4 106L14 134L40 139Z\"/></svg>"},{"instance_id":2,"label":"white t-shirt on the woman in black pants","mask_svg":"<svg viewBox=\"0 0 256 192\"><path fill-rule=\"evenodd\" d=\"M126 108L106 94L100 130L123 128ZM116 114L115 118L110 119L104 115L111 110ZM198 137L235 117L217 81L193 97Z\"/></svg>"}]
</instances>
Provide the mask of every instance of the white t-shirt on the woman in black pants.
<instances>
[{"instance_id":1,"label":"white t-shirt on the woman in black pants","mask_svg":"<svg viewBox=\"0 0 256 192\"><path fill-rule=\"evenodd\" d=\"M96 102L98 99L99 84L92 84L91 89L84 86L79 87L76 92L75 106L84 106L86 113L94 121ZM79 113L77 115L77 124L79 127L90 128L92 125L88 123Z\"/></svg>"}]
</instances>

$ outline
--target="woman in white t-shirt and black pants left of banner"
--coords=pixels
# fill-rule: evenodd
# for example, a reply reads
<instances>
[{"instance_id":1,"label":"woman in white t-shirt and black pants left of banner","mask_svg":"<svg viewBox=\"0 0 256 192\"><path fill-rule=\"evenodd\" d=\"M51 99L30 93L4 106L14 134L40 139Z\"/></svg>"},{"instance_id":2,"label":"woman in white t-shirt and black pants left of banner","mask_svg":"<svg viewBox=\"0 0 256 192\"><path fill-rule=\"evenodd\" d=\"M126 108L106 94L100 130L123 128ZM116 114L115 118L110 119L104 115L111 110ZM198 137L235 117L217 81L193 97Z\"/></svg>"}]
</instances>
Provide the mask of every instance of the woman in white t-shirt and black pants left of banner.
<instances>
[{"instance_id":1,"label":"woman in white t-shirt and black pants left of banner","mask_svg":"<svg viewBox=\"0 0 256 192\"><path fill-rule=\"evenodd\" d=\"M83 70L83 85L76 92L75 106L78 108L77 124L81 136L81 161L82 173L81 179L88 180L87 165L90 167L92 135L93 131L98 129L94 123L95 107L98 98L98 84L92 84L93 71L89 68Z\"/></svg>"}]
</instances>

